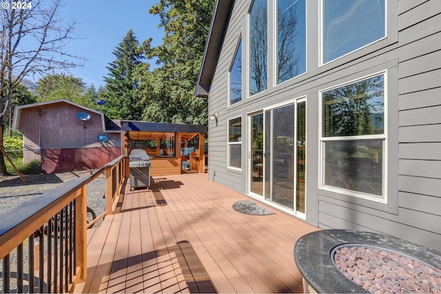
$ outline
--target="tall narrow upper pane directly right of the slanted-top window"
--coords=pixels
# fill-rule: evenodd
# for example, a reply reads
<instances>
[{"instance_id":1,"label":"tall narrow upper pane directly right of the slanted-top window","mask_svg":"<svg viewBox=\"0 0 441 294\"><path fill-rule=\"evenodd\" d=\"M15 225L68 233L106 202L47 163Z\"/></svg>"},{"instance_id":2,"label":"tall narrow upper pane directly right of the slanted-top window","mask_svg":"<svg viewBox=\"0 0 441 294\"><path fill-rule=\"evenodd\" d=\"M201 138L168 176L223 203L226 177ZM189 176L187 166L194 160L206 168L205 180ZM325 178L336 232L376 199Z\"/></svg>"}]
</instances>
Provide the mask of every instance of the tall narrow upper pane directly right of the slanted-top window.
<instances>
[{"instance_id":1,"label":"tall narrow upper pane directly right of the slanted-top window","mask_svg":"<svg viewBox=\"0 0 441 294\"><path fill-rule=\"evenodd\" d=\"M249 96L267 89L267 0L255 0L249 12Z\"/></svg>"}]
</instances>

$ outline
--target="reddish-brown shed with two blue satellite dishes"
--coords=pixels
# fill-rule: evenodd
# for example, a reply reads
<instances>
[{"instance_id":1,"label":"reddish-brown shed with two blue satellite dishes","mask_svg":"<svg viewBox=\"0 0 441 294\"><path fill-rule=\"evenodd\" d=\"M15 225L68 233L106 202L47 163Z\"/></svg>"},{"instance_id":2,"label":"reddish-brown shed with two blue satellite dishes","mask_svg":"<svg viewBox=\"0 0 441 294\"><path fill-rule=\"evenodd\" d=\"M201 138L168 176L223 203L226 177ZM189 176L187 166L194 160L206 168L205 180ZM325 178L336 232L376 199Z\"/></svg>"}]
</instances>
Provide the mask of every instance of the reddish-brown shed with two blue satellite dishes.
<instances>
[{"instance_id":1,"label":"reddish-brown shed with two blue satellite dishes","mask_svg":"<svg viewBox=\"0 0 441 294\"><path fill-rule=\"evenodd\" d=\"M23 161L41 172L99 169L121 155L121 127L103 113L65 99L15 107L12 129L23 132Z\"/></svg>"}]
</instances>

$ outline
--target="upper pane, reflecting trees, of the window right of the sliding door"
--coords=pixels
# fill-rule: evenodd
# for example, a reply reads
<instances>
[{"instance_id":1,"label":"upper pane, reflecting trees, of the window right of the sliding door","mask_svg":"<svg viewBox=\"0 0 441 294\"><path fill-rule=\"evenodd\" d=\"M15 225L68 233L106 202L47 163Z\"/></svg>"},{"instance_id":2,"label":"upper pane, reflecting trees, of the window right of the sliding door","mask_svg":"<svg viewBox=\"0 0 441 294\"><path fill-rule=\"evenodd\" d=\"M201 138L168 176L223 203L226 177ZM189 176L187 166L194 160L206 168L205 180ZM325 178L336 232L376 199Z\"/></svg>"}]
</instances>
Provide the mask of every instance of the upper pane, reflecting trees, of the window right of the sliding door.
<instances>
[{"instance_id":1,"label":"upper pane, reflecting trees, of the window right of the sliding door","mask_svg":"<svg viewBox=\"0 0 441 294\"><path fill-rule=\"evenodd\" d=\"M322 93L322 136L384 134L384 75Z\"/></svg>"}]
</instances>

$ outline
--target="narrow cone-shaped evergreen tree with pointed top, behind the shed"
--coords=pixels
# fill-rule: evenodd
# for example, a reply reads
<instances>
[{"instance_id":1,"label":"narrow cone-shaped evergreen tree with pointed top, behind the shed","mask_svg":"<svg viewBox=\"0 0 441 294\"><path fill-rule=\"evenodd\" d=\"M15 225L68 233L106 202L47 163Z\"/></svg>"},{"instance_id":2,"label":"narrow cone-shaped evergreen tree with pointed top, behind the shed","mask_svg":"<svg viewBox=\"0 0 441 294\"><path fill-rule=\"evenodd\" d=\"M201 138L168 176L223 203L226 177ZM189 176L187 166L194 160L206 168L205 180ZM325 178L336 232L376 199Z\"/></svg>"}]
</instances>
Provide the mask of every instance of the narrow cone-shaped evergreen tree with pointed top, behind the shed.
<instances>
[{"instance_id":1,"label":"narrow cone-shaped evergreen tree with pointed top, behind the shed","mask_svg":"<svg viewBox=\"0 0 441 294\"><path fill-rule=\"evenodd\" d=\"M107 63L109 74L104 77L106 91L101 92L105 100L102 111L109 118L141 120L139 76L136 67L144 59L139 52L139 42L132 29L113 52L116 60Z\"/></svg>"}]
</instances>

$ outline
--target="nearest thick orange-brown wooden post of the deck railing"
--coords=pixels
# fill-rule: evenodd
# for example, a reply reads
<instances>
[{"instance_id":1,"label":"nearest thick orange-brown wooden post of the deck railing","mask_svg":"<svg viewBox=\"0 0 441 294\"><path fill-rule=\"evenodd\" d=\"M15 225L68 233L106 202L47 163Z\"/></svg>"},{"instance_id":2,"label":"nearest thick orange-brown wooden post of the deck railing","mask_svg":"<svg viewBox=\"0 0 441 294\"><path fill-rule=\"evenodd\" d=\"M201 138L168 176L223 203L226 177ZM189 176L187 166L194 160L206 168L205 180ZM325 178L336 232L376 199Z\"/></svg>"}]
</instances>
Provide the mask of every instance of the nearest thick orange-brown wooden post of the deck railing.
<instances>
[{"instance_id":1,"label":"nearest thick orange-brown wooden post of the deck railing","mask_svg":"<svg viewBox=\"0 0 441 294\"><path fill-rule=\"evenodd\" d=\"M87 186L81 187L80 196L76 198L76 266L81 268L79 278L82 282L88 275L88 202L87 202ZM78 274L78 273L77 273Z\"/></svg>"}]
</instances>

